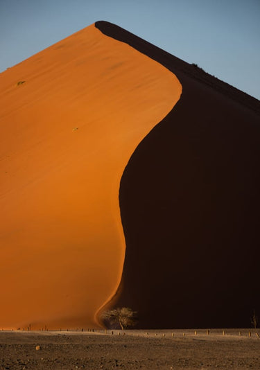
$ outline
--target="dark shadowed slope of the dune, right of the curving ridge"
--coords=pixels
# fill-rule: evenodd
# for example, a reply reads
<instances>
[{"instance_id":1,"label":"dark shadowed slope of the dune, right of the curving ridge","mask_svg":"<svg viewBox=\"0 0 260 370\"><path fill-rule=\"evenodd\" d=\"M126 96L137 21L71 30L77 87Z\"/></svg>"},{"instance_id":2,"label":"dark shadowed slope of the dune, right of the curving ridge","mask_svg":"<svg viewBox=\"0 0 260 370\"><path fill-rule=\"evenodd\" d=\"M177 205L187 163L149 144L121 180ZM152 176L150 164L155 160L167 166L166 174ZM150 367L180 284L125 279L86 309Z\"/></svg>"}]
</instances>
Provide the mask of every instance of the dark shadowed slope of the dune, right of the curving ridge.
<instances>
[{"instance_id":1,"label":"dark shadowed slope of the dune, right of the curving ridge","mask_svg":"<svg viewBox=\"0 0 260 370\"><path fill-rule=\"evenodd\" d=\"M252 311L260 316L259 101L122 28L96 26L182 84L121 179L126 252L112 303L137 310L140 328L250 326Z\"/></svg>"}]
</instances>

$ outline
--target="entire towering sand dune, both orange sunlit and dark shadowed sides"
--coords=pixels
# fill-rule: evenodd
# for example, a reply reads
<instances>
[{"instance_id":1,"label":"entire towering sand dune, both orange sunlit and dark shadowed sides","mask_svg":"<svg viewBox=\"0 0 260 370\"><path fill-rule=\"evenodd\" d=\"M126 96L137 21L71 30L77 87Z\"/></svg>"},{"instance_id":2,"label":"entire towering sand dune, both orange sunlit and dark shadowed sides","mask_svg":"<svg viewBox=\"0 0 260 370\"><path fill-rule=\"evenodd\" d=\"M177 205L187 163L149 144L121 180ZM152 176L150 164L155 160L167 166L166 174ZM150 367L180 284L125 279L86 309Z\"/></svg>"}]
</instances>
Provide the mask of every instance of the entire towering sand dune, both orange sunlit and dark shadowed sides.
<instances>
[{"instance_id":1,"label":"entire towering sand dune, both orange sunlit and dark shadowed sides","mask_svg":"<svg viewBox=\"0 0 260 370\"><path fill-rule=\"evenodd\" d=\"M0 327L259 315L258 100L104 21L1 73L0 99Z\"/></svg>"}]
</instances>

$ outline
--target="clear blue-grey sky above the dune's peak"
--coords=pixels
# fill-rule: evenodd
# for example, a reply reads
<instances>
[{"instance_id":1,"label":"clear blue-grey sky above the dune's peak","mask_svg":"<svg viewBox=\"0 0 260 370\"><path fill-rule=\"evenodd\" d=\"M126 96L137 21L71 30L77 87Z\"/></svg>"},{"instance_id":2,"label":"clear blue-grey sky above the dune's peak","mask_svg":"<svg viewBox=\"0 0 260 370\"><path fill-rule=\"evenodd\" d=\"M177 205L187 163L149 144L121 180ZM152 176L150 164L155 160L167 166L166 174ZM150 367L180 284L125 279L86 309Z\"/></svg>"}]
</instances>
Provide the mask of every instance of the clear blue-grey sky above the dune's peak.
<instances>
[{"instance_id":1,"label":"clear blue-grey sky above the dune's peak","mask_svg":"<svg viewBox=\"0 0 260 370\"><path fill-rule=\"evenodd\" d=\"M260 0L0 0L0 71L98 20L260 100Z\"/></svg>"}]
</instances>

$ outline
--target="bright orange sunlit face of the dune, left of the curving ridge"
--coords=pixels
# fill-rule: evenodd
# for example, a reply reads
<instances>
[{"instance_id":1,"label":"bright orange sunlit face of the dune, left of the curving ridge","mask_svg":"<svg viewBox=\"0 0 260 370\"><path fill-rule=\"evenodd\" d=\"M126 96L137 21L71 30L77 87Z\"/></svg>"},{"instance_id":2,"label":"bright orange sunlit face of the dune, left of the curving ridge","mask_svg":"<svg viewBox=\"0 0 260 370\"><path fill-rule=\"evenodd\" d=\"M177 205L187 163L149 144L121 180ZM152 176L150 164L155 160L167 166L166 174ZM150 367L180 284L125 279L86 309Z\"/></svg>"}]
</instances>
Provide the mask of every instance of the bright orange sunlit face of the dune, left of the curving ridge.
<instances>
[{"instance_id":1,"label":"bright orange sunlit face of the dune, left of the curving ridge","mask_svg":"<svg viewBox=\"0 0 260 370\"><path fill-rule=\"evenodd\" d=\"M121 175L181 90L94 25L1 73L0 327L96 325L123 268Z\"/></svg>"}]
</instances>

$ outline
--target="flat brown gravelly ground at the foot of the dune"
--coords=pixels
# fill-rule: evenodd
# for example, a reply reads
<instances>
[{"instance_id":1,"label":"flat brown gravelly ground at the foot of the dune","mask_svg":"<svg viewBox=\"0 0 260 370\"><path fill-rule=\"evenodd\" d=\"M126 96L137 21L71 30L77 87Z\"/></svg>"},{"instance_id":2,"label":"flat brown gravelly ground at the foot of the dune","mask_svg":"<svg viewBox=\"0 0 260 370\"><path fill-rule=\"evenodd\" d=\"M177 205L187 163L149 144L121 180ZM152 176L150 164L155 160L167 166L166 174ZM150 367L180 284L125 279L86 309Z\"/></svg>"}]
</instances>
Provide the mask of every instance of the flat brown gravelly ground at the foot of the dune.
<instances>
[{"instance_id":1,"label":"flat brown gravelly ground at the foot of the dune","mask_svg":"<svg viewBox=\"0 0 260 370\"><path fill-rule=\"evenodd\" d=\"M2 331L0 369L260 369L260 340L248 332Z\"/></svg>"}]
</instances>

